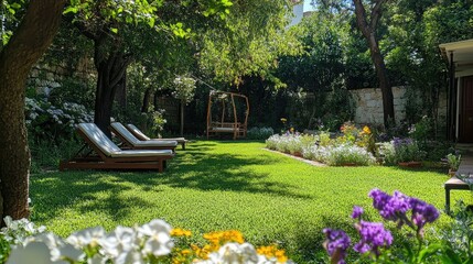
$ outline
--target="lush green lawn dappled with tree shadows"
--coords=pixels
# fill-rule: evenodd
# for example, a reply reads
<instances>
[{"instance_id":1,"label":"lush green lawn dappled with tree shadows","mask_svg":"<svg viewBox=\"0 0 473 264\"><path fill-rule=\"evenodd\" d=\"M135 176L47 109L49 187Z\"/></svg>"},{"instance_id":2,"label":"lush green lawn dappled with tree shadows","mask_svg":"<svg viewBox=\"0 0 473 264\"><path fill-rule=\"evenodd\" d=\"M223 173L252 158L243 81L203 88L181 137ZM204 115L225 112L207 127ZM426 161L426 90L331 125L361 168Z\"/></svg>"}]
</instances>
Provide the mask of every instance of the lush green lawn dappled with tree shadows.
<instances>
[{"instance_id":1,"label":"lush green lawn dappled with tree shadows","mask_svg":"<svg viewBox=\"0 0 473 264\"><path fill-rule=\"evenodd\" d=\"M259 142L201 141L163 174L65 172L31 177L32 220L60 235L86 227L165 219L194 233L238 229L252 243L278 242L299 262L316 261L325 227L353 234L354 205L378 219L372 188L400 190L443 209L444 172L398 167L315 167ZM452 191L454 199L469 191ZM437 226L449 222L442 215Z\"/></svg>"}]
</instances>

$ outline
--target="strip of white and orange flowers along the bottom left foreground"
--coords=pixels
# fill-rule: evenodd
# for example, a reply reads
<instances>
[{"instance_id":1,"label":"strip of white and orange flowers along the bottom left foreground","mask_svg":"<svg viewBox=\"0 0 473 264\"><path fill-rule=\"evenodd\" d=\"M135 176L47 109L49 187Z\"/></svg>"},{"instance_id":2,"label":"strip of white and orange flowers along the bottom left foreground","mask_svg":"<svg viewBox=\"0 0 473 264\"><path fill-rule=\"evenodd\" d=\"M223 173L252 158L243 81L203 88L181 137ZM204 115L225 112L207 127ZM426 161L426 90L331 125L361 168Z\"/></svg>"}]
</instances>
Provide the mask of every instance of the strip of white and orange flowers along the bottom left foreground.
<instances>
[{"instance_id":1,"label":"strip of white and orange flowers along the bottom left foreground","mask_svg":"<svg viewBox=\"0 0 473 264\"><path fill-rule=\"evenodd\" d=\"M172 229L163 220L133 228L89 228L63 239L34 228L25 219L12 221L0 231L1 263L291 263L276 246L255 249L235 230L204 234L204 245L189 244L187 230Z\"/></svg>"}]
</instances>

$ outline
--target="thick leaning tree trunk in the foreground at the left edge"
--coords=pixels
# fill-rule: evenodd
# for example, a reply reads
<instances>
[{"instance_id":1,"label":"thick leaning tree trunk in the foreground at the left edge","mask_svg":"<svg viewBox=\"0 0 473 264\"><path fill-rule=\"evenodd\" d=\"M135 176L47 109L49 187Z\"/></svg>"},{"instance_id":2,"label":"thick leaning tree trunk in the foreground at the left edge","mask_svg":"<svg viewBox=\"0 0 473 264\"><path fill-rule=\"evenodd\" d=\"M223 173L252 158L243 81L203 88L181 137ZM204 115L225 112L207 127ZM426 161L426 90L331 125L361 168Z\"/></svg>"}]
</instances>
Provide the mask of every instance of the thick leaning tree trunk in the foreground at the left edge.
<instances>
[{"instance_id":1,"label":"thick leaning tree trunk in the foreground at the left edge","mask_svg":"<svg viewBox=\"0 0 473 264\"><path fill-rule=\"evenodd\" d=\"M0 53L0 217L28 218L30 150L24 91L31 67L60 26L65 0L30 1L26 13Z\"/></svg>"}]
</instances>

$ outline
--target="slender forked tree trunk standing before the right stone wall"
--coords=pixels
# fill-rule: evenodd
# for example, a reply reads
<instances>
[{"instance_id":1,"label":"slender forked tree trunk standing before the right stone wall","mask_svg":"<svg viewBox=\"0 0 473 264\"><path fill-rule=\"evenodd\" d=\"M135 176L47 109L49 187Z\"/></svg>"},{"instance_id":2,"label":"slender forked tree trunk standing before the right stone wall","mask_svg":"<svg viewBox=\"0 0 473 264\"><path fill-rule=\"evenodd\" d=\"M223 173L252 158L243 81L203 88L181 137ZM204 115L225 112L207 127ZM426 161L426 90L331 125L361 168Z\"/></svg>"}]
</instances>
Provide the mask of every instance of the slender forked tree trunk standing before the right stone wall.
<instances>
[{"instance_id":1,"label":"slender forked tree trunk standing before the right stone wall","mask_svg":"<svg viewBox=\"0 0 473 264\"><path fill-rule=\"evenodd\" d=\"M383 94L384 122L387 127L390 120L395 121L394 97L391 85L386 70L385 59L379 50L378 37L376 36L378 22L383 14L383 3L386 1L387 0L372 0L373 8L370 9L370 15L368 18L363 1L353 0L353 3L355 4L356 23L359 31L368 42L372 61L376 68L376 75L378 76L379 88L381 89Z\"/></svg>"}]
</instances>

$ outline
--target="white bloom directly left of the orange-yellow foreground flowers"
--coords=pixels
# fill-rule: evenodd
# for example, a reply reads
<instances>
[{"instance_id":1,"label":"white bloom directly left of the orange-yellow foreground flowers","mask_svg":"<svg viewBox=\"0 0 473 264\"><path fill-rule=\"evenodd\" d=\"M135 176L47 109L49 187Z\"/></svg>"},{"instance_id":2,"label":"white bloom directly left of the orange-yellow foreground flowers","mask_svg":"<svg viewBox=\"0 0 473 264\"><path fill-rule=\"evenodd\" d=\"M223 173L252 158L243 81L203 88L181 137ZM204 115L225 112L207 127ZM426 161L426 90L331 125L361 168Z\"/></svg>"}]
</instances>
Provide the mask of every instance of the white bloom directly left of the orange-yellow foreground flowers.
<instances>
[{"instance_id":1,"label":"white bloom directly left of the orange-yellow foreground flowers","mask_svg":"<svg viewBox=\"0 0 473 264\"><path fill-rule=\"evenodd\" d=\"M174 246L171 240L171 226L163 220L151 220L151 222L140 227L141 235L148 237L143 246L143 254L153 254L154 256L166 255L171 253Z\"/></svg>"}]
</instances>

